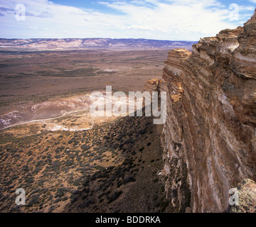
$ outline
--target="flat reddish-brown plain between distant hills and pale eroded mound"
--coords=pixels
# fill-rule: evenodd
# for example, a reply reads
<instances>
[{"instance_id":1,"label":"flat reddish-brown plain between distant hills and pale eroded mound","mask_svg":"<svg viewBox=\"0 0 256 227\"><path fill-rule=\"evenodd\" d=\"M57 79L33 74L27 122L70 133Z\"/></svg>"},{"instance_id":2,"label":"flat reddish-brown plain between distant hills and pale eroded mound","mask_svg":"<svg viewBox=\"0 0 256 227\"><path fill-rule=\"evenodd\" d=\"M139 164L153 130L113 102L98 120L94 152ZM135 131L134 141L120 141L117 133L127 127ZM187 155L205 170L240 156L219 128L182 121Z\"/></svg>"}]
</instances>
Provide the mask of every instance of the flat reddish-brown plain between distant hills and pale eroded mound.
<instances>
[{"instance_id":1,"label":"flat reddish-brown plain between distant hills and pale eroded mound","mask_svg":"<svg viewBox=\"0 0 256 227\"><path fill-rule=\"evenodd\" d=\"M1 52L1 114L24 104L85 92L139 91L160 78L168 50Z\"/></svg>"}]
</instances>

